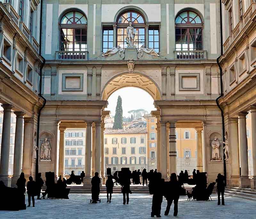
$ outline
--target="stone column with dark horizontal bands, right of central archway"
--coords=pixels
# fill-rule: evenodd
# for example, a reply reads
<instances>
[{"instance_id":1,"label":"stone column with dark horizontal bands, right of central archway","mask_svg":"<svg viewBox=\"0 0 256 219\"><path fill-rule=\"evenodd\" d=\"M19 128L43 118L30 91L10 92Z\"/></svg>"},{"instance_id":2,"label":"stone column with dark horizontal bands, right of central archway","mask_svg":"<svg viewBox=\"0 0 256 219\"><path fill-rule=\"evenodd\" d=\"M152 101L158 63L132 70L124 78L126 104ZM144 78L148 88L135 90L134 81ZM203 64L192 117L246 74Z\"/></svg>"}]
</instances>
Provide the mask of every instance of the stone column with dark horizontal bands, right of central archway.
<instances>
[{"instance_id":1,"label":"stone column with dark horizontal bands, right of central archway","mask_svg":"<svg viewBox=\"0 0 256 219\"><path fill-rule=\"evenodd\" d=\"M170 135L169 135L169 172L177 174L177 148L176 148L176 124L170 122Z\"/></svg>"}]
</instances>

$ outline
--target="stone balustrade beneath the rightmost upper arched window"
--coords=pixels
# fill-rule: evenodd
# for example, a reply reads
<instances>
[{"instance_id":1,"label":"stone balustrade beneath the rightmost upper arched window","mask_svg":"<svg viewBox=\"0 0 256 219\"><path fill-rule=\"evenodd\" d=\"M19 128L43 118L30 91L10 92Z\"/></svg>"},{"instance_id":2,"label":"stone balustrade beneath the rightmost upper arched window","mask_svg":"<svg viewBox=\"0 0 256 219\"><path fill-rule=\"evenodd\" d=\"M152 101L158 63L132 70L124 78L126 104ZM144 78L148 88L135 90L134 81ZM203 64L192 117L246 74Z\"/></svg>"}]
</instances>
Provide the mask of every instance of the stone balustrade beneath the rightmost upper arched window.
<instances>
[{"instance_id":1,"label":"stone balustrade beneath the rightmost upper arched window","mask_svg":"<svg viewBox=\"0 0 256 219\"><path fill-rule=\"evenodd\" d=\"M178 60L202 60L207 59L206 51L194 50L194 51L174 51L174 59Z\"/></svg>"}]
</instances>

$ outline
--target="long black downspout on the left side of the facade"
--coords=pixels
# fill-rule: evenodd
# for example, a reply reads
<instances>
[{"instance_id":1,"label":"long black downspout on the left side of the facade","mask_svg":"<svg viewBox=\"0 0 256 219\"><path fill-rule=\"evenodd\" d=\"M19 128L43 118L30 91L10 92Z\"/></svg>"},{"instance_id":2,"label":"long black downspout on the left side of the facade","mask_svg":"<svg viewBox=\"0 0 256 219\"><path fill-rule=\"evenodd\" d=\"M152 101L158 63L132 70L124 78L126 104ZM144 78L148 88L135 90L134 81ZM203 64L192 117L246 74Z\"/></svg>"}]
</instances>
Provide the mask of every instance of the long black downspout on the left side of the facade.
<instances>
[{"instance_id":1,"label":"long black downspout on the left side of the facade","mask_svg":"<svg viewBox=\"0 0 256 219\"><path fill-rule=\"evenodd\" d=\"M41 10L40 10L40 42L39 42L39 56L41 56L41 45L42 45L42 20L43 20L43 0L41 0ZM37 117L37 132L36 132L36 180L38 179L38 148L39 148L39 125L40 125L40 116L41 116L41 111L44 108L46 104L46 99L42 96L42 68L45 63L45 59L43 58L43 65L41 66L41 71L40 71L40 82L39 82L39 97L43 98L44 104L43 106L38 110L38 117Z\"/></svg>"}]
</instances>

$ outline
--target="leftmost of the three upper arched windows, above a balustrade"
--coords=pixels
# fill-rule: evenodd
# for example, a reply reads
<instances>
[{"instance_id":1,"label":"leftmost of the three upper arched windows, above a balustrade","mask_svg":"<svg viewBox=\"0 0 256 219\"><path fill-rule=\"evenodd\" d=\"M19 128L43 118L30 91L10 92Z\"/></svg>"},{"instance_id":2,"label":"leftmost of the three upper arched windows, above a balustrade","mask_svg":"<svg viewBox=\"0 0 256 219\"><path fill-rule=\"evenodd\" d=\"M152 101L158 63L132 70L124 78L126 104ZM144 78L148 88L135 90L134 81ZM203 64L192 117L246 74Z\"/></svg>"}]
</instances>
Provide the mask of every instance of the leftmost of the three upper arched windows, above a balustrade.
<instances>
[{"instance_id":1,"label":"leftmost of the three upper arched windows, above a balustrade","mask_svg":"<svg viewBox=\"0 0 256 219\"><path fill-rule=\"evenodd\" d=\"M60 51L87 51L87 20L81 12L71 11L62 16Z\"/></svg>"}]
</instances>

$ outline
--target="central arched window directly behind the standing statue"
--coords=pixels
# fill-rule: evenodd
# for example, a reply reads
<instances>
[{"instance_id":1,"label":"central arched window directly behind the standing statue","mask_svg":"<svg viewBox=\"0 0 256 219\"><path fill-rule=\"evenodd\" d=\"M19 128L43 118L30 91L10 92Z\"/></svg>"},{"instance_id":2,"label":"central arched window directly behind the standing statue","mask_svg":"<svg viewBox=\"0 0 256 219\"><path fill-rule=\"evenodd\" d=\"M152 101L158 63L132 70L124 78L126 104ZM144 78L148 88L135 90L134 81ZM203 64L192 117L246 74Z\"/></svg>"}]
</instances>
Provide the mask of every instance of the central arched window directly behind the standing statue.
<instances>
[{"instance_id":1,"label":"central arched window directly behind the standing statue","mask_svg":"<svg viewBox=\"0 0 256 219\"><path fill-rule=\"evenodd\" d=\"M144 18L138 12L128 11L122 13L117 18L117 45L120 45L123 49L128 46L126 42L126 28L130 20L132 21L132 27L134 27L134 44L136 48L140 48L145 44Z\"/></svg>"}]
</instances>

